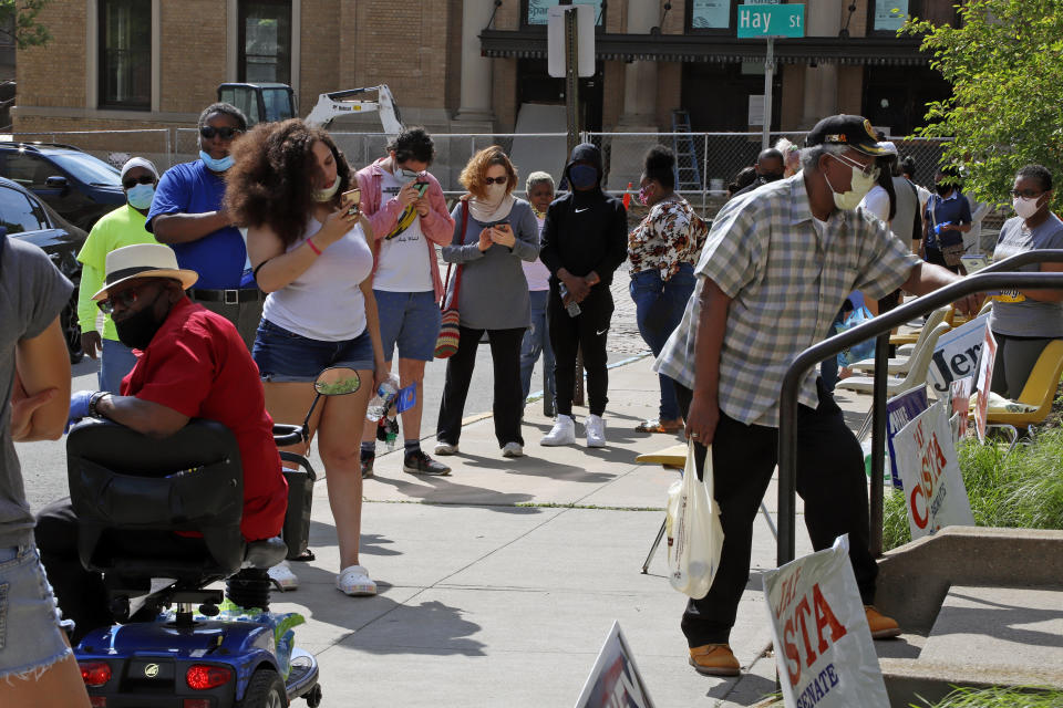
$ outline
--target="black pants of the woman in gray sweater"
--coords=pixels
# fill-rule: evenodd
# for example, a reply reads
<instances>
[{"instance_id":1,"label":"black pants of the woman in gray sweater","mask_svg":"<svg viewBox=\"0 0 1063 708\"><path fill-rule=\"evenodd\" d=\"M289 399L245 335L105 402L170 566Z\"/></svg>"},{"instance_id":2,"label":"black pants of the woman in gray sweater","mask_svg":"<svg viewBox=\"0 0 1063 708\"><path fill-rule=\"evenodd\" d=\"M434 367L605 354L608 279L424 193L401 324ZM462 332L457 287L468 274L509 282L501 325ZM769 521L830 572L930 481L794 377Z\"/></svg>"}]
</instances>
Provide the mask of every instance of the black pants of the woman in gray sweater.
<instances>
[{"instance_id":1,"label":"black pants of the woman in gray sweater","mask_svg":"<svg viewBox=\"0 0 1063 708\"><path fill-rule=\"evenodd\" d=\"M520 386L520 344L526 327L512 330L486 330L491 343L491 361L495 371L495 400L492 406L495 419L495 437L498 446L506 442L524 445L520 435L520 415L524 413L524 392ZM460 327L457 352L446 360L446 382L443 384L443 403L435 426L435 438L441 442L457 445L462 437L462 415L465 413L465 396L476 366L476 347L485 330Z\"/></svg>"}]
</instances>

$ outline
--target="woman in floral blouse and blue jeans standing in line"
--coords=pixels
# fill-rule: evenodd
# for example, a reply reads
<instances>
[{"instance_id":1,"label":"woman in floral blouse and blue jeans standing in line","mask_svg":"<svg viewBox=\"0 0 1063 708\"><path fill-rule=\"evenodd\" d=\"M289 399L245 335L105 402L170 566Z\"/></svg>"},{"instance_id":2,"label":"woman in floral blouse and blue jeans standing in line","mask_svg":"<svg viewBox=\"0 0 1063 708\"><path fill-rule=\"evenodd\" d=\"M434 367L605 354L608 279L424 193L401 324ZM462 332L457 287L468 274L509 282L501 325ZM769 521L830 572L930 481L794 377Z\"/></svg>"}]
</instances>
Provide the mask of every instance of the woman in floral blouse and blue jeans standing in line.
<instances>
[{"instance_id":1,"label":"woman in floral blouse and blue jeans standing in line","mask_svg":"<svg viewBox=\"0 0 1063 708\"><path fill-rule=\"evenodd\" d=\"M630 291L639 332L657 356L694 291L694 263L709 229L675 194L675 155L667 147L651 147L646 154L639 200L650 212L628 236ZM664 375L660 379L658 418L639 424L638 433L674 433L683 425L672 379Z\"/></svg>"}]
</instances>

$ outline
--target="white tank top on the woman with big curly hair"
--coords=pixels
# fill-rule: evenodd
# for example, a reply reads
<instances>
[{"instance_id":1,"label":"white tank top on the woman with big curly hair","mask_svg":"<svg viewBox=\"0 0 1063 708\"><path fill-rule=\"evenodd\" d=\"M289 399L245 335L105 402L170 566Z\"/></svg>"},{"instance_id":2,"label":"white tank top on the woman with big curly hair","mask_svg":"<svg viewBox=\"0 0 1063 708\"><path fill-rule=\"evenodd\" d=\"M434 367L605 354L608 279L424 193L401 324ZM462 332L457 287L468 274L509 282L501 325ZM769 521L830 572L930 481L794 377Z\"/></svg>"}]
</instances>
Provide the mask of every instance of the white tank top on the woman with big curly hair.
<instances>
[{"instance_id":1,"label":"white tank top on the woman with big curly hair","mask_svg":"<svg viewBox=\"0 0 1063 708\"><path fill-rule=\"evenodd\" d=\"M310 219L299 248L321 225ZM362 227L355 225L328 247L299 278L266 298L262 316L296 334L322 342L353 340L365 331L365 299L359 283L373 272Z\"/></svg>"}]
</instances>

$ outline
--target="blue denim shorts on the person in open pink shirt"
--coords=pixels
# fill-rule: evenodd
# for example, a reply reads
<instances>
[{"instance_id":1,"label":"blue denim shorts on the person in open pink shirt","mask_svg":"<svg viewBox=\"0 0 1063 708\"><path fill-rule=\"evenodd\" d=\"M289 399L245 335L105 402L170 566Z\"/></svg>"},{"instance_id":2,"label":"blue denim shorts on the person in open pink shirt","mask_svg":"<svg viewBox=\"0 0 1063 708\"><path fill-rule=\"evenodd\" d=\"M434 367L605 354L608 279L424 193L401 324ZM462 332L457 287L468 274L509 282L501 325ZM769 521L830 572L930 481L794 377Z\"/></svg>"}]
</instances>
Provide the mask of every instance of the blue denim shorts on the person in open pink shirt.
<instances>
[{"instance_id":1,"label":"blue denim shorts on the person in open pink shirt","mask_svg":"<svg viewBox=\"0 0 1063 708\"><path fill-rule=\"evenodd\" d=\"M435 340L440 336L442 317L435 293L374 290L373 294L380 314L384 358L391 361L396 344L401 358L421 362L435 358Z\"/></svg>"}]
</instances>

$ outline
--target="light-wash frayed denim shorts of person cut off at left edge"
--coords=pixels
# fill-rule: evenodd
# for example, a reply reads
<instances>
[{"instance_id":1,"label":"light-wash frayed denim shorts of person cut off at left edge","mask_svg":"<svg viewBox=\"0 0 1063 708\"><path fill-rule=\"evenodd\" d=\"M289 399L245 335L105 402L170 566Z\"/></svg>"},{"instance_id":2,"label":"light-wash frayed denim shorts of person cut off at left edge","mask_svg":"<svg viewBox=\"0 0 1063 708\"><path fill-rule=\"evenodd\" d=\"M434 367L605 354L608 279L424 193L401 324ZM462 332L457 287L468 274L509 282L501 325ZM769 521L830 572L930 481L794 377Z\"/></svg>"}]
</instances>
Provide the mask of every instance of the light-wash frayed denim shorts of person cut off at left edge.
<instances>
[{"instance_id":1,"label":"light-wash frayed denim shorts of person cut off at left edge","mask_svg":"<svg viewBox=\"0 0 1063 708\"><path fill-rule=\"evenodd\" d=\"M65 658L59 622L37 546L0 548L0 680L35 679Z\"/></svg>"}]
</instances>

